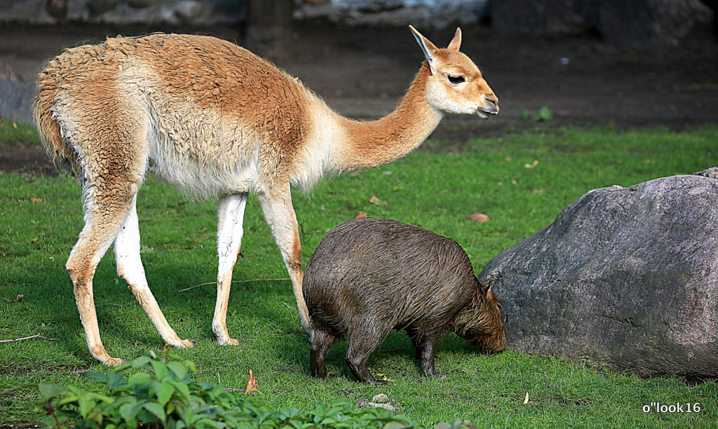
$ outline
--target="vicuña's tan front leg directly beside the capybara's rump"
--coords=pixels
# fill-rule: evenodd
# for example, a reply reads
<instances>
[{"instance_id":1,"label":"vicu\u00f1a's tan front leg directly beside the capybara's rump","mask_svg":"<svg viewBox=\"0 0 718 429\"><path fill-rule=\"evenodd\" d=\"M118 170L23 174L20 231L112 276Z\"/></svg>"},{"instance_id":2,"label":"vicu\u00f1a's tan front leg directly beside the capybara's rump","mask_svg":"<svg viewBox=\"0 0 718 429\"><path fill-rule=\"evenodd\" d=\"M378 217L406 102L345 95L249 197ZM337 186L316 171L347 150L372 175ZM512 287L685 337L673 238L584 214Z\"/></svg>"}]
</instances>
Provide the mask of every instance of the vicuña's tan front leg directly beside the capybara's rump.
<instances>
[{"instance_id":1,"label":"vicu\u00f1a's tan front leg directly beside the capybara's rump","mask_svg":"<svg viewBox=\"0 0 718 429\"><path fill-rule=\"evenodd\" d=\"M284 265L289 271L289 278L292 279L294 298L297 300L299 319L302 321L302 328L309 334L309 341L312 341L313 330L309 321L307 304L304 303L302 295L302 245L299 242L299 227L297 216L292 207L292 194L289 184L281 187L274 187L269 193L260 193L259 202L264 212L267 224L271 229L274 240L281 250L284 258Z\"/></svg>"}]
</instances>

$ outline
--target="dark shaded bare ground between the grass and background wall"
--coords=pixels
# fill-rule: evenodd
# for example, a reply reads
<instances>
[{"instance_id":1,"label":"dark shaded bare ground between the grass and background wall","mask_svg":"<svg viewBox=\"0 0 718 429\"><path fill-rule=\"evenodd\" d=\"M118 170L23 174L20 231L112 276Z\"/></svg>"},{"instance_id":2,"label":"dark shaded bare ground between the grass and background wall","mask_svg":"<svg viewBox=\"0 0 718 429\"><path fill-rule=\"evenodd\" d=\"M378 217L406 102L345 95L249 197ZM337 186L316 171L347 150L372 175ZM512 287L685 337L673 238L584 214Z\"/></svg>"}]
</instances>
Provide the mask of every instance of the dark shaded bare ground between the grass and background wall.
<instances>
[{"instance_id":1,"label":"dark shaded bare ground between the grass and background wall","mask_svg":"<svg viewBox=\"0 0 718 429\"><path fill-rule=\"evenodd\" d=\"M521 21L521 16L527 11L533 10L531 16L539 14L541 11L531 7L544 2L503 1L525 4L526 9L516 9L518 21L489 15L481 22L462 25L462 51L477 62L497 93L500 114L490 121L448 115L434 132L435 140L460 145L468 138L502 133L507 127L610 125L681 130L718 122L718 44L712 22L697 26L681 39L669 37L661 42L657 38L637 46L616 43L615 34L606 37L585 22L570 31L551 29L551 25L556 26L555 19L546 16L534 19L534 24L538 22L540 27L543 22L546 28L533 28L531 22L512 28L516 22L526 21ZM0 60L19 79L34 83L42 62L65 47L99 42L116 34L213 34L238 44L248 42L255 52L269 56L279 67L299 77L342 114L374 118L393 109L423 59L405 25L351 27L327 19L292 20L282 4L293 7L289 0L250 1L246 21L207 28L108 27L78 22L3 24ZM561 9L561 4L565 6L567 1L554 2L552 11L544 8L541 13L552 16L574 10ZM253 15L253 10L260 12ZM258 13L261 19L253 20ZM508 23L500 24L502 19L508 19ZM273 29L273 23L281 28ZM624 27L632 25L627 22ZM439 46L449 42L454 29L454 25L419 28ZM553 119L533 121L544 106ZM37 148L0 148L0 169L32 169L42 164L44 157Z\"/></svg>"}]
</instances>

